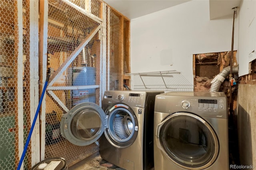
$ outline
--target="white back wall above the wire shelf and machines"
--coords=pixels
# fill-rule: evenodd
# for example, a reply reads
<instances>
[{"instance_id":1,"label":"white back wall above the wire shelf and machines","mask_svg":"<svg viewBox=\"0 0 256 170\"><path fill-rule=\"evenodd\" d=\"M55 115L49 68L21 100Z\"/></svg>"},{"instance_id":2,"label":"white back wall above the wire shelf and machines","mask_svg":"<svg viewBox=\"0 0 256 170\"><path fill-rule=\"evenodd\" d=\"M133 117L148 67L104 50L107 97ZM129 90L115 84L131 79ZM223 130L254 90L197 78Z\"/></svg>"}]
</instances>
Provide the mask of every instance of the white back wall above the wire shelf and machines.
<instances>
[{"instance_id":1,"label":"white back wall above the wire shelf and machines","mask_svg":"<svg viewBox=\"0 0 256 170\"><path fill-rule=\"evenodd\" d=\"M131 20L131 73L176 70L193 85L193 54L230 51L232 23L233 18L210 20L206 0L135 18ZM235 27L237 33L238 24ZM237 34L234 40L237 50Z\"/></svg>"}]
</instances>

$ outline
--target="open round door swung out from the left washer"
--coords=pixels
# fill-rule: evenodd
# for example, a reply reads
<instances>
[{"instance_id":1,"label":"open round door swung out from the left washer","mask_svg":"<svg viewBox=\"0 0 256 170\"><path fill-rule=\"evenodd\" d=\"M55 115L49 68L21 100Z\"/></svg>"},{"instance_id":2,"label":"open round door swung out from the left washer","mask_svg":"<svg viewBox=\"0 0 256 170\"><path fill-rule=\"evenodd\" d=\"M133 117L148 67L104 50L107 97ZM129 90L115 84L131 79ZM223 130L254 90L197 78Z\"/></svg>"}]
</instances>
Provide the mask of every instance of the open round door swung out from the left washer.
<instances>
[{"instance_id":1,"label":"open round door swung out from the left washer","mask_svg":"<svg viewBox=\"0 0 256 170\"><path fill-rule=\"evenodd\" d=\"M95 103L81 103L62 116L60 131L64 138L78 146L98 140L106 123L104 111Z\"/></svg>"}]
</instances>

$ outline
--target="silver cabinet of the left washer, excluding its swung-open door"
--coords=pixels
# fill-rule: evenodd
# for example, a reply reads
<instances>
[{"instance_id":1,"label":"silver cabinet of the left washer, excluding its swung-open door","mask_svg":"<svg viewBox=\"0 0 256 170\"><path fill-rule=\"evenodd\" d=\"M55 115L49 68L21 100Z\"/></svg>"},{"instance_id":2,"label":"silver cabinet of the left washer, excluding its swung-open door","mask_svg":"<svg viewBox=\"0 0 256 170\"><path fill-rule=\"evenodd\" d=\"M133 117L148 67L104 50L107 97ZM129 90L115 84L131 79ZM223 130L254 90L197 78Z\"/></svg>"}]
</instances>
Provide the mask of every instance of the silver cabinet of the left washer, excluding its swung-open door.
<instances>
[{"instance_id":1,"label":"silver cabinet of the left washer, excluding its swung-open door","mask_svg":"<svg viewBox=\"0 0 256 170\"><path fill-rule=\"evenodd\" d=\"M108 114L108 127L100 138L102 159L126 170L146 170L153 166L154 101L156 95L160 93L164 92L106 91L104 93L102 109ZM116 104L123 104L128 108L122 110L122 107L113 107ZM120 116L122 113L128 113L129 118ZM134 120L129 115L133 115ZM134 121L138 124L134 125ZM119 134L127 134L127 136ZM126 138L128 140L125 140Z\"/></svg>"}]
</instances>

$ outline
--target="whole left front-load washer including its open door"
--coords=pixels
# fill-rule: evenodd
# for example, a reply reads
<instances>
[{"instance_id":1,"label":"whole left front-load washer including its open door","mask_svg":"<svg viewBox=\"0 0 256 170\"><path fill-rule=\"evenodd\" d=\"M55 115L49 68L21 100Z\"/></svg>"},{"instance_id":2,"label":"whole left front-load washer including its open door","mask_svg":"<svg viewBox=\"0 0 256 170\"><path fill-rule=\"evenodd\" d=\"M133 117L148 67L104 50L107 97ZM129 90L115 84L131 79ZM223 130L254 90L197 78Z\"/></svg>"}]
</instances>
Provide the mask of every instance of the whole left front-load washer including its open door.
<instances>
[{"instance_id":1,"label":"whole left front-load washer including its open door","mask_svg":"<svg viewBox=\"0 0 256 170\"><path fill-rule=\"evenodd\" d=\"M126 170L149 169L154 164L154 102L160 93L164 92L105 91L102 108L86 102L64 114L61 134L78 146L102 136L102 159Z\"/></svg>"}]
</instances>

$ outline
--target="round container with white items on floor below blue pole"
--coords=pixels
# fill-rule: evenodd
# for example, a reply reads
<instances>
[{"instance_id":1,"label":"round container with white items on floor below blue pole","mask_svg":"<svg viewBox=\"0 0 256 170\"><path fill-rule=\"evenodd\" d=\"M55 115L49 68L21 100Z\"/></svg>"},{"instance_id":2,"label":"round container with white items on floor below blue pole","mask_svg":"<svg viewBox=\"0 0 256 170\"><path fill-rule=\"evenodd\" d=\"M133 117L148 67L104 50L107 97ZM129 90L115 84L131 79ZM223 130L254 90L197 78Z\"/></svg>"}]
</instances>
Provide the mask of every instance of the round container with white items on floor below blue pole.
<instances>
[{"instance_id":1,"label":"round container with white items on floor below blue pole","mask_svg":"<svg viewBox=\"0 0 256 170\"><path fill-rule=\"evenodd\" d=\"M68 166L64 158L48 158L38 162L32 170L68 170Z\"/></svg>"}]
</instances>

